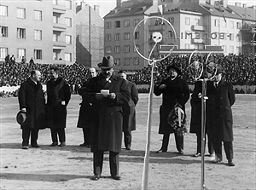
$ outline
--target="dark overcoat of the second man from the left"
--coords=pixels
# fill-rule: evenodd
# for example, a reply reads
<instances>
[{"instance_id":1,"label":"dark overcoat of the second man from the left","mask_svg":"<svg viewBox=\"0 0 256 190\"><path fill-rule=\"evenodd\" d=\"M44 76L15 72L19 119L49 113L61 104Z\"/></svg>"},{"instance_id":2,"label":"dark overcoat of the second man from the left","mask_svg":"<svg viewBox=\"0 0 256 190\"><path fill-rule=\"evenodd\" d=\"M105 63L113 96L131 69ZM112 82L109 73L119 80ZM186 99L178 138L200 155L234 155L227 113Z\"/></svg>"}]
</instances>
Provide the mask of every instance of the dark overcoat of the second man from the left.
<instances>
[{"instance_id":1,"label":"dark overcoat of the second man from the left","mask_svg":"<svg viewBox=\"0 0 256 190\"><path fill-rule=\"evenodd\" d=\"M67 105L71 93L69 85L63 78L50 79L47 83L47 127L50 129L66 128ZM65 101L65 105L61 105Z\"/></svg>"}]
</instances>

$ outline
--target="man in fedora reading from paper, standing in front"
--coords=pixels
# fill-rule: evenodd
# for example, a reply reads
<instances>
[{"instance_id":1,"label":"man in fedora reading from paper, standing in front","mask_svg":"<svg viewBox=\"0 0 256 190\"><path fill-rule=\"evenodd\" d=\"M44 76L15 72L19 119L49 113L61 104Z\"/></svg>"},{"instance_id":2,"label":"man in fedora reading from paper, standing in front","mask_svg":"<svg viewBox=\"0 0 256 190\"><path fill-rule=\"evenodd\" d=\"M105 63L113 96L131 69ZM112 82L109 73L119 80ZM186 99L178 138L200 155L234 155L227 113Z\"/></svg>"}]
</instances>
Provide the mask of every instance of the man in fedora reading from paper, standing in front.
<instances>
[{"instance_id":1,"label":"man in fedora reading from paper, standing in front","mask_svg":"<svg viewBox=\"0 0 256 190\"><path fill-rule=\"evenodd\" d=\"M125 79L113 75L113 57L104 56L101 74L90 78L87 95L94 97L92 101L96 112L95 124L91 127L91 152L93 153L92 180L99 180L102 174L104 151L109 151L110 174L114 180L120 180L119 153L122 144L122 106L130 98ZM104 92L103 92L104 91Z\"/></svg>"}]
</instances>

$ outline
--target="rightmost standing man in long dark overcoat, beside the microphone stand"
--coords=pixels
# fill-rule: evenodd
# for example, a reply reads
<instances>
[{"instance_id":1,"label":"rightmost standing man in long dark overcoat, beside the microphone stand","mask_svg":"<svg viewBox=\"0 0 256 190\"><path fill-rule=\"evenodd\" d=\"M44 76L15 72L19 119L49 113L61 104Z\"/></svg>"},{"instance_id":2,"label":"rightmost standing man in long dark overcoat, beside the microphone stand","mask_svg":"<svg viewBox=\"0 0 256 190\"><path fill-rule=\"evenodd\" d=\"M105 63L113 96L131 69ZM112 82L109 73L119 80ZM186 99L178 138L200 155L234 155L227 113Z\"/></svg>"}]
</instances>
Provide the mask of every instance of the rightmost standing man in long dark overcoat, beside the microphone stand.
<instances>
[{"instance_id":1,"label":"rightmost standing man in long dark overcoat, beside the microphone stand","mask_svg":"<svg viewBox=\"0 0 256 190\"><path fill-rule=\"evenodd\" d=\"M215 151L214 163L222 161L222 141L228 164L233 163L233 116L231 106L235 103L232 83L222 78L223 70L217 67L215 80L207 85L207 133Z\"/></svg>"}]
</instances>

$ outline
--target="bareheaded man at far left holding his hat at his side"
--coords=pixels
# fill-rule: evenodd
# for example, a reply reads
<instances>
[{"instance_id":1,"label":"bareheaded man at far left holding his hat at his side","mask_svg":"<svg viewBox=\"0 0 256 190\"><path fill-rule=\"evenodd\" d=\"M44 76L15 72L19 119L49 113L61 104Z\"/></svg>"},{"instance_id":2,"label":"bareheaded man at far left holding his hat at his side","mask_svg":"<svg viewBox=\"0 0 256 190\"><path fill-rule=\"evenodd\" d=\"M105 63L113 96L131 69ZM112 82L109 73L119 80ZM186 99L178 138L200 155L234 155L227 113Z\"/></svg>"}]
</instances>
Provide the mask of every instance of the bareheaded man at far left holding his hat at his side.
<instances>
[{"instance_id":1,"label":"bareheaded man at far left holding his hat at his side","mask_svg":"<svg viewBox=\"0 0 256 190\"><path fill-rule=\"evenodd\" d=\"M38 131L46 128L45 99L42 84L39 83L41 73L38 70L31 72L30 78L21 83L19 90L20 111L27 113L27 121L20 125L22 130L22 148L28 149L31 135L31 146L38 146Z\"/></svg>"}]
</instances>

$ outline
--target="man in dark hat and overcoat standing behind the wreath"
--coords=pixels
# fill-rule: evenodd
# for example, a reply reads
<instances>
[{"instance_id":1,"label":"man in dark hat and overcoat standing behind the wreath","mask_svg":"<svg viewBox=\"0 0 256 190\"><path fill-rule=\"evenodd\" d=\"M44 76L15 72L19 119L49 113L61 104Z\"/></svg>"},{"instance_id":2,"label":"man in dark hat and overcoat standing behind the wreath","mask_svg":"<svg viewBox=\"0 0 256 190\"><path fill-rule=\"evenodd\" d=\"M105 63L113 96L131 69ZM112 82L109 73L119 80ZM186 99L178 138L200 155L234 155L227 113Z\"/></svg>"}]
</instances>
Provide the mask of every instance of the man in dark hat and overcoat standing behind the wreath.
<instances>
[{"instance_id":1,"label":"man in dark hat and overcoat standing behind the wreath","mask_svg":"<svg viewBox=\"0 0 256 190\"><path fill-rule=\"evenodd\" d=\"M183 78L180 78L181 71L176 64L167 66L166 70L169 77L154 88L154 95L162 95L159 134L163 134L163 141L157 153L167 152L170 134L174 133L177 151L179 154L183 154L183 135L177 135L177 131L168 124L167 118L169 112L176 105L185 112L185 103L189 100L189 85Z\"/></svg>"}]
</instances>

